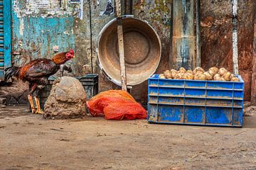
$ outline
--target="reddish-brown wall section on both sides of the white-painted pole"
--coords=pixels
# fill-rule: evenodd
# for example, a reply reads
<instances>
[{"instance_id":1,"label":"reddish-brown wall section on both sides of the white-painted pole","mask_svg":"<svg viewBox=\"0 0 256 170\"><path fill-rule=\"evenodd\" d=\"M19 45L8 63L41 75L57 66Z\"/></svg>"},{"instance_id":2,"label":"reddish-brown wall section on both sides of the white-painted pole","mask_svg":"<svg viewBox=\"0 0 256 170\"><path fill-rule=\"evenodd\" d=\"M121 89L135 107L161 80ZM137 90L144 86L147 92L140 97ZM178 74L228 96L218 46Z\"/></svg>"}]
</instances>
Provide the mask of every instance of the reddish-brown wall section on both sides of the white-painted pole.
<instances>
[{"instance_id":1,"label":"reddish-brown wall section on both sides of the white-painted pole","mask_svg":"<svg viewBox=\"0 0 256 170\"><path fill-rule=\"evenodd\" d=\"M232 13L230 1L201 1L202 66L233 71ZM253 50L254 0L238 1L238 64L245 80L245 100L250 100ZM225 6L225 8L223 8Z\"/></svg>"}]
</instances>

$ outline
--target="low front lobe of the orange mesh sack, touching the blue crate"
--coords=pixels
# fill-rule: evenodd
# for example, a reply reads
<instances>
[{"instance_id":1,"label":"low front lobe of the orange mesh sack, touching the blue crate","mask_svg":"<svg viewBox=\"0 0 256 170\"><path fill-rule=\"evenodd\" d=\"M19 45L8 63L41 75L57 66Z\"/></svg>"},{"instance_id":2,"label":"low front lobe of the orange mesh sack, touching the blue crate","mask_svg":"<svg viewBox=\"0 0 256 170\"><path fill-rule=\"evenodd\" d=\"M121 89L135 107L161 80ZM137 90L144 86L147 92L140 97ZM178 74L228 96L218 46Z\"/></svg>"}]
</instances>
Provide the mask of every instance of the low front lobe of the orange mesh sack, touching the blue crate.
<instances>
[{"instance_id":1,"label":"low front lobe of the orange mesh sack, touching the blue crate","mask_svg":"<svg viewBox=\"0 0 256 170\"><path fill-rule=\"evenodd\" d=\"M110 103L104 108L105 119L107 120L134 120L146 119L146 110L136 102Z\"/></svg>"}]
</instances>

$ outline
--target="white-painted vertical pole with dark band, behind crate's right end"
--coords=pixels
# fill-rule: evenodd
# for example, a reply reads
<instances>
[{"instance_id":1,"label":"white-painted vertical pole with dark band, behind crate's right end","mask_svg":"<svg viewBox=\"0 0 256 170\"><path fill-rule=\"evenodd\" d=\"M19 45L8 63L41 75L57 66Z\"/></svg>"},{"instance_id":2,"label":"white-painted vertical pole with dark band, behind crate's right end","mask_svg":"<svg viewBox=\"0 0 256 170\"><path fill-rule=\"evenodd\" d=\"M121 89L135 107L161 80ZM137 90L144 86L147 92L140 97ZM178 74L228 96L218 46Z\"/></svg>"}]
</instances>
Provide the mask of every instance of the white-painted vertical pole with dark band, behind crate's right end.
<instances>
[{"instance_id":1,"label":"white-painted vertical pole with dark band, behind crate's right end","mask_svg":"<svg viewBox=\"0 0 256 170\"><path fill-rule=\"evenodd\" d=\"M233 24L233 71L238 72L238 0L232 0L232 24Z\"/></svg>"}]
</instances>

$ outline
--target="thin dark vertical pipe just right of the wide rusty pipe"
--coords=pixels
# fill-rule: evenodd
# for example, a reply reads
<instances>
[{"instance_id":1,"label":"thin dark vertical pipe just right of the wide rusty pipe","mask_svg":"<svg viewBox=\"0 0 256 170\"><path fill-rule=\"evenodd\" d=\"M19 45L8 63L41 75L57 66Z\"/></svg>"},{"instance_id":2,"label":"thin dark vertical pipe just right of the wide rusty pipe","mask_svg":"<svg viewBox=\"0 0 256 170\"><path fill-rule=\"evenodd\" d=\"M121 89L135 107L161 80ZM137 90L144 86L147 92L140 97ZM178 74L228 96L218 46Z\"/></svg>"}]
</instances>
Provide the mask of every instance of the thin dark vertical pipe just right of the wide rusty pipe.
<instances>
[{"instance_id":1,"label":"thin dark vertical pipe just right of the wide rusty pipe","mask_svg":"<svg viewBox=\"0 0 256 170\"><path fill-rule=\"evenodd\" d=\"M201 13L200 13L200 0L196 0L196 67L201 67Z\"/></svg>"}]
</instances>

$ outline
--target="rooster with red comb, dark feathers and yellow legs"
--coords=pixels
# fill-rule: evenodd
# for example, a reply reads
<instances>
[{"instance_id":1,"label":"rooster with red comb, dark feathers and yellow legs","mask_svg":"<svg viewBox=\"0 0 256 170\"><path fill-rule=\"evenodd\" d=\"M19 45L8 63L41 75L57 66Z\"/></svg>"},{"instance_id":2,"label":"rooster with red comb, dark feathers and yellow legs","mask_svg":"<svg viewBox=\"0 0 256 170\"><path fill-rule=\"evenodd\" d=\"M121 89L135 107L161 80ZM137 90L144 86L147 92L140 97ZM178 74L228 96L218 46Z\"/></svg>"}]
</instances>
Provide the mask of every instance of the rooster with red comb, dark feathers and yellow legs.
<instances>
[{"instance_id":1,"label":"rooster with red comb, dark feathers and yellow legs","mask_svg":"<svg viewBox=\"0 0 256 170\"><path fill-rule=\"evenodd\" d=\"M40 108L38 92L48 84L48 77L58 72L61 64L65 64L70 59L75 58L74 51L60 52L53 56L52 60L36 59L23 67L9 67L5 69L5 81L11 77L17 77L22 81L28 81L31 91L28 94L28 101L32 113L43 114ZM33 93L35 92L36 108L33 104Z\"/></svg>"}]
</instances>

